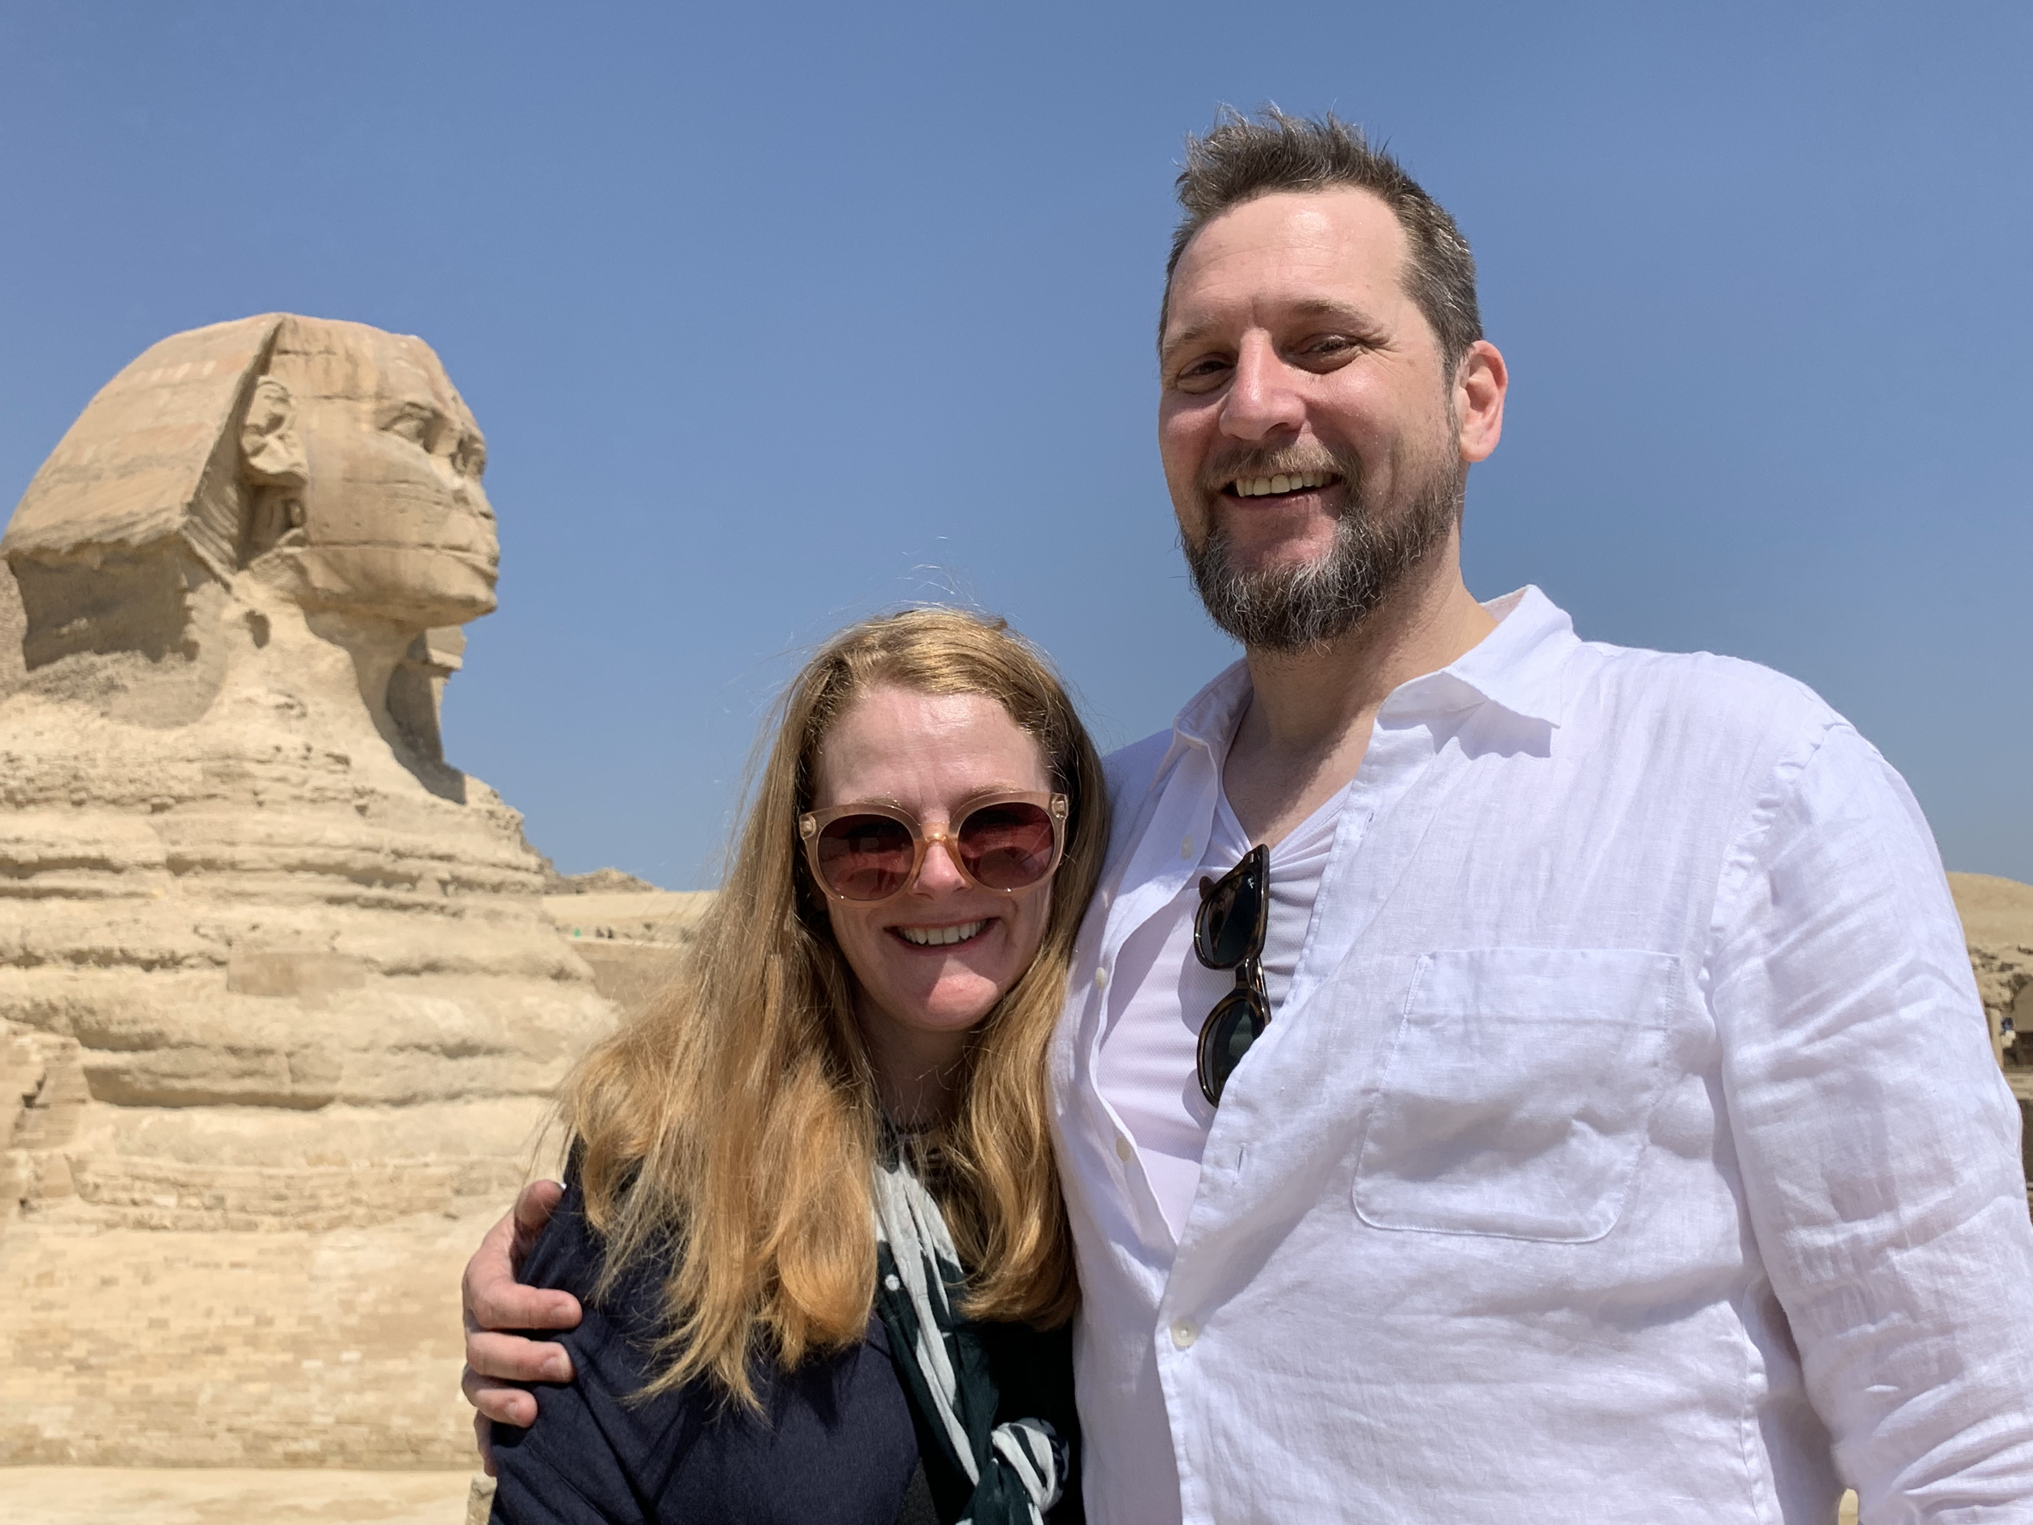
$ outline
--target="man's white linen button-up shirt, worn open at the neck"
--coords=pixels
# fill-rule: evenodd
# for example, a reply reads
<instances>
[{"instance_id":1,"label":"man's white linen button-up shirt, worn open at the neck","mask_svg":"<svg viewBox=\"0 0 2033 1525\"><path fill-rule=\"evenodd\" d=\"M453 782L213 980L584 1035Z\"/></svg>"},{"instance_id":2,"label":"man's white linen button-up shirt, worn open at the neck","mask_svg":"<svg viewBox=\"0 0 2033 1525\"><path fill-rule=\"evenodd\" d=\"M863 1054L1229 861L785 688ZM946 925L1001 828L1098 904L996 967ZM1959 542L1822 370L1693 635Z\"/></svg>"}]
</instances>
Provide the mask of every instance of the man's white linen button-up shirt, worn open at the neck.
<instances>
[{"instance_id":1,"label":"man's white linen button-up shirt, worn open at the neck","mask_svg":"<svg viewBox=\"0 0 2033 1525\"><path fill-rule=\"evenodd\" d=\"M2033 1226L1925 819L1533 588L1384 702L1173 1240L1096 1086L1248 675L1110 758L1051 1049L1096 1525L2033 1519Z\"/></svg>"}]
</instances>

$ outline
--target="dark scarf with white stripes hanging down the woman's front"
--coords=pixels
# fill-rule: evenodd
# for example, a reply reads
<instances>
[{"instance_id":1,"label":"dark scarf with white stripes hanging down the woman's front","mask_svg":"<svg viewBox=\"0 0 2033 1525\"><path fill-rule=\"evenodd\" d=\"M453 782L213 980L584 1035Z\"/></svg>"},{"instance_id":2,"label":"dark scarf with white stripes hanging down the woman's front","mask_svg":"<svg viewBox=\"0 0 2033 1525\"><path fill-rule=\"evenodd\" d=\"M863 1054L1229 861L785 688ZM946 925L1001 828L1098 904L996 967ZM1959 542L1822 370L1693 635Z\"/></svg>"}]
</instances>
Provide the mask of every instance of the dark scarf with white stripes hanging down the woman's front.
<instances>
[{"instance_id":1,"label":"dark scarf with white stripes hanging down the woman's front","mask_svg":"<svg viewBox=\"0 0 2033 1525\"><path fill-rule=\"evenodd\" d=\"M905 1393L974 1494L960 1525L1043 1525L1065 1486L1065 1442L1043 1419L996 1423L996 1381L953 1314L960 1253L939 1204L884 1149L874 1169L876 1312Z\"/></svg>"}]
</instances>

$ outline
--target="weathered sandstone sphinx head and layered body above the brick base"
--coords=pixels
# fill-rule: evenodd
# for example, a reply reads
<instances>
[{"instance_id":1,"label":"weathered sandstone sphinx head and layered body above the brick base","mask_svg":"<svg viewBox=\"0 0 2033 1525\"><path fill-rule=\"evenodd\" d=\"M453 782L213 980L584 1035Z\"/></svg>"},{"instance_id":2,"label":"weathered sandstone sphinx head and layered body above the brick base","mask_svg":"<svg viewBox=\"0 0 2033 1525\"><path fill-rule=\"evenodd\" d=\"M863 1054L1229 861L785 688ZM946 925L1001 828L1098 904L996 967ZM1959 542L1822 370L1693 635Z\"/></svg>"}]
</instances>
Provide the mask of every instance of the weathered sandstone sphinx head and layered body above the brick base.
<instances>
[{"instance_id":1,"label":"weathered sandstone sphinx head and layered body above the brick base","mask_svg":"<svg viewBox=\"0 0 2033 1525\"><path fill-rule=\"evenodd\" d=\"M331 1228L498 1200L612 1019L443 756L496 602L421 340L163 340L0 557L0 1218ZM12 1112L12 1114L10 1114Z\"/></svg>"}]
</instances>

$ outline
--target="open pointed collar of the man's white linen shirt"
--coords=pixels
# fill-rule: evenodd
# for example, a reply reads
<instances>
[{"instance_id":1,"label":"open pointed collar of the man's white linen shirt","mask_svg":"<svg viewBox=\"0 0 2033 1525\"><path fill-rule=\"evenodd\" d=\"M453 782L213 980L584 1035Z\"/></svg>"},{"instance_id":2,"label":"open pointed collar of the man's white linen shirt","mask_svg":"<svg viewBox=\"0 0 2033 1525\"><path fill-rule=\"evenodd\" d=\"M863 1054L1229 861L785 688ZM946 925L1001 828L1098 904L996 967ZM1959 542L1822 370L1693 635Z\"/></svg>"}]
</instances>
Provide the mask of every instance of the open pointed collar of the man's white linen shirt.
<instances>
[{"instance_id":1,"label":"open pointed collar of the man's white linen shirt","mask_svg":"<svg viewBox=\"0 0 2033 1525\"><path fill-rule=\"evenodd\" d=\"M1574 620L1531 584L1492 598L1482 608L1494 616L1496 628L1437 673L1399 683L1384 699L1382 716L1415 720L1488 702L1521 720L1559 726L1561 669L1582 645L1574 634ZM1238 661L1187 699L1171 728L1167 762L1183 746L1206 746L1220 765L1248 697L1250 669Z\"/></svg>"}]
</instances>

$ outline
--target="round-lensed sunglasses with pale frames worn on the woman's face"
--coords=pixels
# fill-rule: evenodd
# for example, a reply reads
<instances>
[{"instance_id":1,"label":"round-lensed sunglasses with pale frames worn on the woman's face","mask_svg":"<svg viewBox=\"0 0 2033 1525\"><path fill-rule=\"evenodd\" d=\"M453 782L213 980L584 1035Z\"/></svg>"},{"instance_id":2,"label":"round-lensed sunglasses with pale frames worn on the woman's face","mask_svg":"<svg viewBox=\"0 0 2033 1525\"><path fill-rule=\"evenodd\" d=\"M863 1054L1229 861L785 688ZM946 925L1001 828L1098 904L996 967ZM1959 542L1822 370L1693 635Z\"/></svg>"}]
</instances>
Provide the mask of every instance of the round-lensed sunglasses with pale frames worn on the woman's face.
<instances>
[{"instance_id":1,"label":"round-lensed sunglasses with pale frames worn on the woman's face","mask_svg":"<svg viewBox=\"0 0 2033 1525\"><path fill-rule=\"evenodd\" d=\"M836 901L876 905L903 895L933 844L976 889L1014 895L1043 884L1065 852L1065 795L986 795L949 832L925 832L907 809L834 805L797 817L811 876Z\"/></svg>"}]
</instances>

